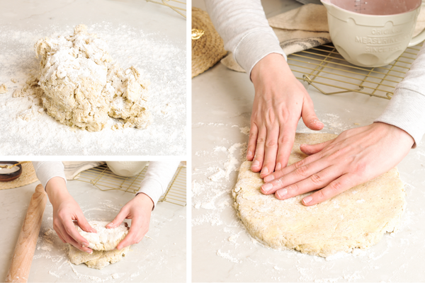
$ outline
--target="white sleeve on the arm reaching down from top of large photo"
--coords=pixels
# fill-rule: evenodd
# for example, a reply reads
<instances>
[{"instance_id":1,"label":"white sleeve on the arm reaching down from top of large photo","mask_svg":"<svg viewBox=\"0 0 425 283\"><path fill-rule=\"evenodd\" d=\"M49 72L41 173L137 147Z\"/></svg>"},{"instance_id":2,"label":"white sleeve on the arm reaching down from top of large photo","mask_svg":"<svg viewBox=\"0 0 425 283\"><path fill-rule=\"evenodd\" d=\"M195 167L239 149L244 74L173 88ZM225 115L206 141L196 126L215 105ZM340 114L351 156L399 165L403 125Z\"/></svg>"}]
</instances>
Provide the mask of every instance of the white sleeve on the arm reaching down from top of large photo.
<instances>
[{"instance_id":1,"label":"white sleeve on the arm reaching down from top of large photo","mask_svg":"<svg viewBox=\"0 0 425 283\"><path fill-rule=\"evenodd\" d=\"M225 50L232 52L250 77L255 64L268 54L282 54L287 59L260 0L205 0L205 5Z\"/></svg>"}]
</instances>

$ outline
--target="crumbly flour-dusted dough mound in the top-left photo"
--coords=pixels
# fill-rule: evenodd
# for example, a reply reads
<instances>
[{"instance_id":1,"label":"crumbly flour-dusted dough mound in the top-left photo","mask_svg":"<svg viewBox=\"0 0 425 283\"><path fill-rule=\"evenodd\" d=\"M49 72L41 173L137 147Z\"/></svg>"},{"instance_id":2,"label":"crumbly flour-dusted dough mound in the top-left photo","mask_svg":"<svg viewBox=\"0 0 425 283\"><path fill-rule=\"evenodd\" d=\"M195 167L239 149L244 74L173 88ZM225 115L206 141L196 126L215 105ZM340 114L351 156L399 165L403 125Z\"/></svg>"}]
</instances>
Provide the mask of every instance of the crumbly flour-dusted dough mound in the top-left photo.
<instances>
[{"instance_id":1,"label":"crumbly flour-dusted dough mound in the top-left photo","mask_svg":"<svg viewBox=\"0 0 425 283\"><path fill-rule=\"evenodd\" d=\"M41 58L42 106L64 125L100 131L108 116L123 120L120 127L146 128L147 86L135 67L125 71L113 62L106 42L77 25L74 35L46 37L35 43Z\"/></svg>"}]
</instances>

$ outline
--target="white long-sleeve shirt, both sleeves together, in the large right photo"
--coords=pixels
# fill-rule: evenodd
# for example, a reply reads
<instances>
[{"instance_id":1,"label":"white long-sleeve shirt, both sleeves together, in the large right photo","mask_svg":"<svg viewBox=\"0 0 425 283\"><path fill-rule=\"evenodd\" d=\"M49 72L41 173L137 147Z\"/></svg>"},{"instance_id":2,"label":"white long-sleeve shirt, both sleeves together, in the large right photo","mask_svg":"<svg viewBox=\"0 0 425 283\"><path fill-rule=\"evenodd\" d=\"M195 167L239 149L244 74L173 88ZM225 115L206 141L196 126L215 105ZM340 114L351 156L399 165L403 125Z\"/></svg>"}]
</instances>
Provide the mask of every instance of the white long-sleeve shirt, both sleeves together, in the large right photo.
<instances>
[{"instance_id":1,"label":"white long-sleeve shirt, both sleeves together, in the large right photo","mask_svg":"<svg viewBox=\"0 0 425 283\"><path fill-rule=\"evenodd\" d=\"M282 54L286 59L260 0L205 0L205 6L225 49L233 53L249 76L255 64L268 54ZM404 129L413 137L413 147L421 141L425 133L425 45L375 122Z\"/></svg>"}]
</instances>

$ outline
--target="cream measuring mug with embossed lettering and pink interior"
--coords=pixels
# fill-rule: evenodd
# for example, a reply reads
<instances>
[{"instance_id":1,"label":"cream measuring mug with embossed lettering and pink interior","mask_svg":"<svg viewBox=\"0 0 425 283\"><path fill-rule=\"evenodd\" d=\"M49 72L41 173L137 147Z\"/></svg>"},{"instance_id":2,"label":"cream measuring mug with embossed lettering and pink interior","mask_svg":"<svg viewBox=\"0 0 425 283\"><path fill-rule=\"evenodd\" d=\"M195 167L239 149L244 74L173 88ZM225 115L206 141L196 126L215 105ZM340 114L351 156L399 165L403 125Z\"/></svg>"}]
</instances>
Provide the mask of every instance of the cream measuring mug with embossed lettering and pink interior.
<instances>
[{"instance_id":1,"label":"cream measuring mug with embossed lettering and pink interior","mask_svg":"<svg viewBox=\"0 0 425 283\"><path fill-rule=\"evenodd\" d=\"M331 40L351 64L385 66L425 40L425 30L412 38L421 0L320 1L327 8Z\"/></svg>"}]
</instances>

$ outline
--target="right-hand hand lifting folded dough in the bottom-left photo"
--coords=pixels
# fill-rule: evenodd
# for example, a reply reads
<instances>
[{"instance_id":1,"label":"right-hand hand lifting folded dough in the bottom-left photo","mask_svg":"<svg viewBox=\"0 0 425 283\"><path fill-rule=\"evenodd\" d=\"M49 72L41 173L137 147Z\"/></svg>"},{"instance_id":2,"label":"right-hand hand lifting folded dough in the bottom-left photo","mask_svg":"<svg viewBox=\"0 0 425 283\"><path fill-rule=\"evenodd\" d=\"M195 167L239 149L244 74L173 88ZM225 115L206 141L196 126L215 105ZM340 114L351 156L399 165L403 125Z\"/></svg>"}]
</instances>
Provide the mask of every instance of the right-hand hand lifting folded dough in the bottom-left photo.
<instances>
[{"instance_id":1,"label":"right-hand hand lifting folded dough in the bottom-left photo","mask_svg":"<svg viewBox=\"0 0 425 283\"><path fill-rule=\"evenodd\" d=\"M151 198L143 192L140 192L140 194L136 195L130 202L121 208L118 215L110 224L106 225L106 228L115 228L119 226L124 219L132 219L130 231L123 241L118 244L117 250L121 250L133 243L142 241L142 238L145 237L145 234L149 230L149 221L153 207L154 202L152 202Z\"/></svg>"}]
</instances>

